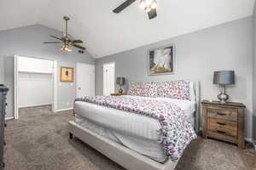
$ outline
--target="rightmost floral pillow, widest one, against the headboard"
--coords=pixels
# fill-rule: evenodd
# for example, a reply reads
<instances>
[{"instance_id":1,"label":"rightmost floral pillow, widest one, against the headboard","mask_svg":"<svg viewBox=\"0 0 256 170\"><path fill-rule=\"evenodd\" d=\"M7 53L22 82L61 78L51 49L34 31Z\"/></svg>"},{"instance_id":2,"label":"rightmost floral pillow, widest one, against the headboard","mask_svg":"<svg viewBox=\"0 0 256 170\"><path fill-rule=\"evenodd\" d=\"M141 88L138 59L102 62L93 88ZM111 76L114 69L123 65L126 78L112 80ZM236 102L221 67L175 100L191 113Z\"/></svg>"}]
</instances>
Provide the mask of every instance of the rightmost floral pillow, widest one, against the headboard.
<instances>
[{"instance_id":1,"label":"rightmost floral pillow, widest one, against the headboard","mask_svg":"<svg viewBox=\"0 0 256 170\"><path fill-rule=\"evenodd\" d=\"M174 81L160 82L158 96L171 99L190 99L190 82Z\"/></svg>"}]
</instances>

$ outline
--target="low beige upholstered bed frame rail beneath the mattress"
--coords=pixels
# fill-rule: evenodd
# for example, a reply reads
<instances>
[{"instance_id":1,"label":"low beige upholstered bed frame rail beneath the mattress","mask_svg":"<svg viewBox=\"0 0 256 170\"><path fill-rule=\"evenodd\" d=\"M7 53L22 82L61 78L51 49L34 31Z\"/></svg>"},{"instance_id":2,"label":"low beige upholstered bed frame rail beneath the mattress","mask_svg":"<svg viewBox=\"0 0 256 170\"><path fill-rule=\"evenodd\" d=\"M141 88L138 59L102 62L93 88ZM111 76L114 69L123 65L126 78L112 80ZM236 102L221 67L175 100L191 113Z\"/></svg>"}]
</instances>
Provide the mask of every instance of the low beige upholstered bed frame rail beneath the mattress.
<instances>
[{"instance_id":1,"label":"low beige upholstered bed frame rail beneath the mattress","mask_svg":"<svg viewBox=\"0 0 256 170\"><path fill-rule=\"evenodd\" d=\"M140 155L136 151L126 148L122 144L104 138L73 121L68 123L68 130L71 139L73 136L81 139L84 143L89 144L92 148L108 156L109 159L128 170L174 170L177 165L177 161L172 162L170 159L165 163L154 161L147 156Z\"/></svg>"}]
</instances>

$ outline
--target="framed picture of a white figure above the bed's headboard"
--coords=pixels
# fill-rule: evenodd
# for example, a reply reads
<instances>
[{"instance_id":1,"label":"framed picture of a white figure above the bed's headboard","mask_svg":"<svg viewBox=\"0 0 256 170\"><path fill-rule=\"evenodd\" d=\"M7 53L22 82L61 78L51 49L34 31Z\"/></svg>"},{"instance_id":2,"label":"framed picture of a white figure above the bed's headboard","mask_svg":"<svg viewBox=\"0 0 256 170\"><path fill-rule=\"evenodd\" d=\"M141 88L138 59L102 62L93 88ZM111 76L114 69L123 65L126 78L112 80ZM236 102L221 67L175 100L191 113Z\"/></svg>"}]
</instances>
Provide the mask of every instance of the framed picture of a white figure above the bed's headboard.
<instances>
[{"instance_id":1,"label":"framed picture of a white figure above the bed's headboard","mask_svg":"<svg viewBox=\"0 0 256 170\"><path fill-rule=\"evenodd\" d=\"M174 74L176 63L174 44L149 49L147 58L149 76Z\"/></svg>"}]
</instances>

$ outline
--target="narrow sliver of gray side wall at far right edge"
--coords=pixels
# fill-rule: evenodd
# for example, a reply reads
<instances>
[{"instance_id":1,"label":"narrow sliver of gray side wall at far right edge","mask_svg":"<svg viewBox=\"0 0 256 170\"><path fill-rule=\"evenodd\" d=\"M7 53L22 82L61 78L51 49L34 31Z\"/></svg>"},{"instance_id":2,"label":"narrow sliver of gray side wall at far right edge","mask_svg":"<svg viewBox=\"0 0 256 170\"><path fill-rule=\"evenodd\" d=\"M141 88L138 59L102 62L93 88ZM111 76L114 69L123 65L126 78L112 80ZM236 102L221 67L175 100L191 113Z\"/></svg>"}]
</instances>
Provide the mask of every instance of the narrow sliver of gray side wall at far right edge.
<instances>
[{"instance_id":1,"label":"narrow sliver of gray side wall at far right edge","mask_svg":"<svg viewBox=\"0 0 256 170\"><path fill-rule=\"evenodd\" d=\"M256 3L253 11L253 139L256 141Z\"/></svg>"}]
</instances>

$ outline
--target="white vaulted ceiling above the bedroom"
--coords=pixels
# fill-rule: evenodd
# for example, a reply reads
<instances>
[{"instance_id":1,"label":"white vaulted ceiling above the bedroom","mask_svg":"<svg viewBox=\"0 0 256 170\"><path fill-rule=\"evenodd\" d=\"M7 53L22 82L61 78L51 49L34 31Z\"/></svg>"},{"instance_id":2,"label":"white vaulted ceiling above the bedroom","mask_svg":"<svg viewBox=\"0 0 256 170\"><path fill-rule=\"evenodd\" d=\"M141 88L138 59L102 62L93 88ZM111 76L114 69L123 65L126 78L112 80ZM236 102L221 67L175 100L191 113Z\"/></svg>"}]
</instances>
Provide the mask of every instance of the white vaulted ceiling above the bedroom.
<instances>
[{"instance_id":1,"label":"white vaulted ceiling above the bedroom","mask_svg":"<svg viewBox=\"0 0 256 170\"><path fill-rule=\"evenodd\" d=\"M99 58L250 16L254 5L254 0L158 0L158 17L148 20L138 1L113 14L124 1L1 0L0 30L42 24L62 31L62 16L68 15L69 34Z\"/></svg>"}]
</instances>

